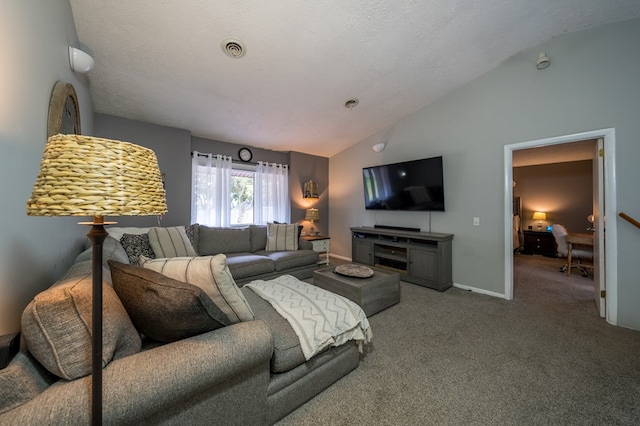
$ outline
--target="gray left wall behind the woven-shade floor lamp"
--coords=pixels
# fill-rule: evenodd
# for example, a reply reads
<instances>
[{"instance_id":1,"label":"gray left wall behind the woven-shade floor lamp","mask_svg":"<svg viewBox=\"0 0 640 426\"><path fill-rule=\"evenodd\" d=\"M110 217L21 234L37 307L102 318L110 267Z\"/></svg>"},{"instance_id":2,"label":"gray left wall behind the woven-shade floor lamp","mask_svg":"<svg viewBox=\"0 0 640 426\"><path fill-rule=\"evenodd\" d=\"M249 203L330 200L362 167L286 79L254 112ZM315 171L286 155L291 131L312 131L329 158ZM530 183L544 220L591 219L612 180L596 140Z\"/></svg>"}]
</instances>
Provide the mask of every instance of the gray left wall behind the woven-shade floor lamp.
<instances>
[{"instance_id":1,"label":"gray left wall behind the woven-shade floor lamp","mask_svg":"<svg viewBox=\"0 0 640 426\"><path fill-rule=\"evenodd\" d=\"M85 218L29 217L26 201L47 139L49 99L58 80L72 83L83 133L93 120L87 80L69 67L79 46L68 0L3 0L0 7L0 335L20 329L33 296L80 252Z\"/></svg>"}]
</instances>

